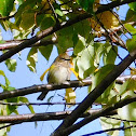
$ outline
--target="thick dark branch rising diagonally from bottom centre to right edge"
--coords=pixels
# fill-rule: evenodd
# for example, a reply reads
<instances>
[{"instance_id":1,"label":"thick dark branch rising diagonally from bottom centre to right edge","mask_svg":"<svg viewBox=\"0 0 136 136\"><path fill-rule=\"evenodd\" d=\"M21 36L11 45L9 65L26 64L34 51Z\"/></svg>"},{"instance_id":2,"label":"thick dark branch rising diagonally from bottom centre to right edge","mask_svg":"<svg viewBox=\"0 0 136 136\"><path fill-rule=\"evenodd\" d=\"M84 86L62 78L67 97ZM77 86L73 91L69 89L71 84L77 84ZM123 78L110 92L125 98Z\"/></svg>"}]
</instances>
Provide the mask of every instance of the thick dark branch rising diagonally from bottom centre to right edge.
<instances>
[{"instance_id":1,"label":"thick dark branch rising diagonally from bottom centre to right edge","mask_svg":"<svg viewBox=\"0 0 136 136\"><path fill-rule=\"evenodd\" d=\"M105 90L136 59L136 50L127 55L109 74L83 99L83 101L68 115L58 128L53 133L54 136L63 136L63 131L71 126L77 119L105 92Z\"/></svg>"}]
</instances>

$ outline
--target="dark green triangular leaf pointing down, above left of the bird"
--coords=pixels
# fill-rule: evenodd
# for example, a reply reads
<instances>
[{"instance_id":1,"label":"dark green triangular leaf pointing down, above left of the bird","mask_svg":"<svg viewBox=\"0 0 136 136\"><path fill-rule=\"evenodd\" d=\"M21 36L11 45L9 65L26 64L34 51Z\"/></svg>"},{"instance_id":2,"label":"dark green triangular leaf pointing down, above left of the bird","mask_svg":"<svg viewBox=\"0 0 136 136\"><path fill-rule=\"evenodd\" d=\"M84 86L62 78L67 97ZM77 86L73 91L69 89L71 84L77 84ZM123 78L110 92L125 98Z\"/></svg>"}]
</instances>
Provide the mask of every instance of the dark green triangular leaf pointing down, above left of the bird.
<instances>
[{"instance_id":1,"label":"dark green triangular leaf pointing down, above left of the bird","mask_svg":"<svg viewBox=\"0 0 136 136\"><path fill-rule=\"evenodd\" d=\"M52 53L53 45L40 46L39 52L49 60L50 55Z\"/></svg>"}]
</instances>

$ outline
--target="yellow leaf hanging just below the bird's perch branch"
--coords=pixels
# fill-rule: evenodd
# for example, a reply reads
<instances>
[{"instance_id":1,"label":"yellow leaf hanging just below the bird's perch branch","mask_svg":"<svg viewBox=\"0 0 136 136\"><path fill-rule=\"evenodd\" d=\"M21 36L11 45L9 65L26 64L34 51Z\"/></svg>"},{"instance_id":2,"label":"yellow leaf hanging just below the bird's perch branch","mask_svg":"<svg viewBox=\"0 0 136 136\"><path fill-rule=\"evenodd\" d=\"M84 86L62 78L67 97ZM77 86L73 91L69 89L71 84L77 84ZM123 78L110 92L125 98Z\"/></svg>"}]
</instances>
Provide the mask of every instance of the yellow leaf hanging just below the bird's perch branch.
<instances>
[{"instance_id":1,"label":"yellow leaf hanging just below the bird's perch branch","mask_svg":"<svg viewBox=\"0 0 136 136\"><path fill-rule=\"evenodd\" d=\"M76 93L71 87L66 89L65 100L66 103L76 104ZM71 105L67 105L67 107L70 108Z\"/></svg>"}]
</instances>

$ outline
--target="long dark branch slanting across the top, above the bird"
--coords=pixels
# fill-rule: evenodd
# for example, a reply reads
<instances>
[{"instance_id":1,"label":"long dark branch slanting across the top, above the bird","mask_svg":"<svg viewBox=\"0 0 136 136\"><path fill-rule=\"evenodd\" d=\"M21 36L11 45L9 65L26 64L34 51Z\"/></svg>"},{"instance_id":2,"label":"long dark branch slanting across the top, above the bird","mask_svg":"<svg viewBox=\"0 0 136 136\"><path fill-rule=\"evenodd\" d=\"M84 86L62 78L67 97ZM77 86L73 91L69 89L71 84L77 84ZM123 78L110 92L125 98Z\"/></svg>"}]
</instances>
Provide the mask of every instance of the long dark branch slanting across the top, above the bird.
<instances>
[{"instance_id":1,"label":"long dark branch slanting across the top, above the bird","mask_svg":"<svg viewBox=\"0 0 136 136\"><path fill-rule=\"evenodd\" d=\"M123 0L123 1L113 1L111 3L108 3L106 5L99 6L98 10L96 11L96 14L108 11L109 9L113 9L115 6L125 4L125 3L131 3L131 2L135 2L135 0ZM73 19L69 19L67 23L63 23L60 24L60 26L58 27L58 25L56 24L54 27L50 27L45 30L43 30L41 33L39 33L38 36L35 36L30 39L28 39L27 41L24 41L23 43L21 43L18 46L11 49L10 51L8 51L6 53L2 54L0 56L0 63L10 58L11 56L13 56L14 54L18 53L19 51L28 47L31 44L35 44L36 42L38 42L39 40L41 40L44 37L47 37L50 35L52 35L53 32L56 32L63 28L66 28L68 26L71 26L76 23L79 23L83 19L86 19L89 17L92 17L91 14L81 14L78 15L77 17L74 17Z\"/></svg>"}]
</instances>

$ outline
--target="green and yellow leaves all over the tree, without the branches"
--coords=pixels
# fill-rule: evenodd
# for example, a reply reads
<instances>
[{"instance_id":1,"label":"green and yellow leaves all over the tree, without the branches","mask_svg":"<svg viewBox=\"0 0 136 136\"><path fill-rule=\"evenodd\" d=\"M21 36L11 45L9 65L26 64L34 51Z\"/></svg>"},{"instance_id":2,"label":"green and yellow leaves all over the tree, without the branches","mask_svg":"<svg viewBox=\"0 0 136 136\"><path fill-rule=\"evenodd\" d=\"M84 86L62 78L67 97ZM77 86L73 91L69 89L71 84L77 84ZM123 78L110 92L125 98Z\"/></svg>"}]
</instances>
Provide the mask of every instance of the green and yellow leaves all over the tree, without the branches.
<instances>
[{"instance_id":1,"label":"green and yellow leaves all over the tree, without the branches","mask_svg":"<svg viewBox=\"0 0 136 136\"><path fill-rule=\"evenodd\" d=\"M114 0L111 0L114 1ZM111 2L108 1L108 2ZM105 1L106 2L106 1ZM41 55L49 60L53 45L57 47L58 53L66 52L69 47L73 49L72 63L74 71L78 72L78 78L82 79L92 77L92 85L89 86L89 93L95 89L100 81L115 67L117 60L122 56L119 49L123 46L122 52L132 53L136 50L136 2L130 3L128 11L124 21L120 19L117 13L109 9L103 13L97 14L98 8L103 6L99 0L2 0L0 1L0 24L2 28L8 31L11 30L14 40L26 40L28 38L38 36L43 30L55 27L59 28L63 24L72 21L79 15L90 15L86 19L77 22L73 25L68 25L63 29L54 31L52 35L44 38L44 40L55 39L55 44L41 44L40 46L31 47L26 54L26 65L30 71L37 72L38 55ZM115 10L114 10L115 11ZM78 18L78 17L77 17ZM121 29L118 29L121 27ZM122 32L123 31L123 32ZM128 35L128 36L127 36ZM126 44L121 36L127 38ZM4 39L1 39L0 43ZM119 41L123 41L122 43ZM6 41L5 41L6 42ZM124 44L125 45L124 45ZM1 52L3 54L4 52ZM17 62L15 58L5 60L8 69L12 72L16 71ZM136 74L135 68L130 68L130 74ZM0 69L0 78L3 78L4 83L0 81L0 87L5 91L12 91L15 87L10 86L10 81ZM43 80L43 77L42 77ZM127 80L123 84L118 84L115 81L105 91L105 93L95 101L101 105L103 108L111 106L121 99L130 96L136 96L136 81ZM71 95L69 96L69 94ZM67 103L76 100L74 91L67 90ZM72 99L70 99L72 97ZM72 101L70 101L72 100ZM26 97L8 98L6 103L28 103ZM28 107L33 113L32 106ZM135 103L130 104L123 108L118 109L118 114L113 118L100 118L101 127L104 130L120 126L130 126L131 122L122 120L136 121ZM125 112L124 112L125 111ZM0 115L11 113L18 114L17 106L0 106ZM1 135L6 135L8 130L2 130ZM133 135L135 128L124 131L125 135ZM117 136L117 132L108 133Z\"/></svg>"}]
</instances>

